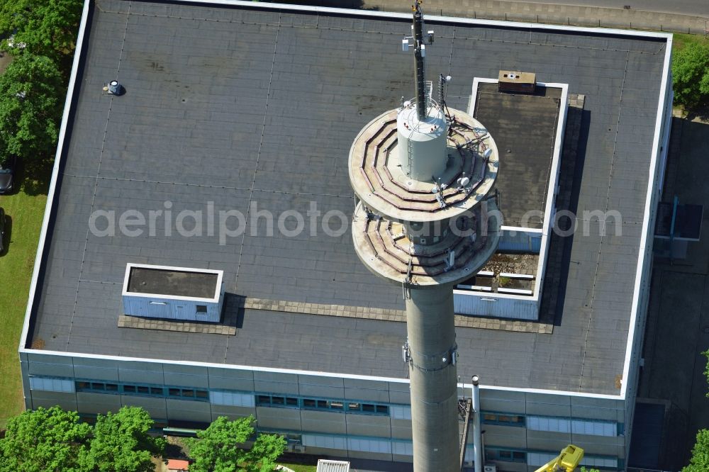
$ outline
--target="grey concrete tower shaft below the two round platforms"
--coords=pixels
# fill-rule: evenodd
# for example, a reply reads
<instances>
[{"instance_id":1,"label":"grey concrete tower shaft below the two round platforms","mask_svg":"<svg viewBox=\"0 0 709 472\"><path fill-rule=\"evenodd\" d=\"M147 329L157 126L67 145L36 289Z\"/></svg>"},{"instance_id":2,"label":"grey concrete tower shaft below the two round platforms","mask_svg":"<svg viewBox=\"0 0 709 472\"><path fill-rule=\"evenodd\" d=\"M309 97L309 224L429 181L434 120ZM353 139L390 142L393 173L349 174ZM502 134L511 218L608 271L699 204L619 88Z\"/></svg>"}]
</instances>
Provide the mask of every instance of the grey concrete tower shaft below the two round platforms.
<instances>
[{"instance_id":1,"label":"grey concrete tower shaft below the two round platforms","mask_svg":"<svg viewBox=\"0 0 709 472\"><path fill-rule=\"evenodd\" d=\"M406 329L414 471L459 471L452 286L411 290Z\"/></svg>"}]
</instances>

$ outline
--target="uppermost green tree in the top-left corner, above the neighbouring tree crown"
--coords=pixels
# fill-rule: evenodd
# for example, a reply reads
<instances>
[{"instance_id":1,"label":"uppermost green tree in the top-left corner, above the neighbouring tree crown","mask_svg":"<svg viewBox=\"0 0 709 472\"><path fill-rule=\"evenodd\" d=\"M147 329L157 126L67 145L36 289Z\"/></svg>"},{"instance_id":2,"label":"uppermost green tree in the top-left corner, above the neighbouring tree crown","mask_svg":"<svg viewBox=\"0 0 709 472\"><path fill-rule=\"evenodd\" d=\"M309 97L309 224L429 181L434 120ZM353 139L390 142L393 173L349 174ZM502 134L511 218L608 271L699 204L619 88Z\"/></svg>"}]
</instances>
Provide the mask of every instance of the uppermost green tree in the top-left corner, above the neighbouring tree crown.
<instances>
[{"instance_id":1,"label":"uppermost green tree in the top-left corner, above the neighbouring tree crown","mask_svg":"<svg viewBox=\"0 0 709 472\"><path fill-rule=\"evenodd\" d=\"M49 57L68 78L83 4L81 0L1 1L0 33L13 35L13 40L4 40L0 47L13 56Z\"/></svg>"}]
</instances>

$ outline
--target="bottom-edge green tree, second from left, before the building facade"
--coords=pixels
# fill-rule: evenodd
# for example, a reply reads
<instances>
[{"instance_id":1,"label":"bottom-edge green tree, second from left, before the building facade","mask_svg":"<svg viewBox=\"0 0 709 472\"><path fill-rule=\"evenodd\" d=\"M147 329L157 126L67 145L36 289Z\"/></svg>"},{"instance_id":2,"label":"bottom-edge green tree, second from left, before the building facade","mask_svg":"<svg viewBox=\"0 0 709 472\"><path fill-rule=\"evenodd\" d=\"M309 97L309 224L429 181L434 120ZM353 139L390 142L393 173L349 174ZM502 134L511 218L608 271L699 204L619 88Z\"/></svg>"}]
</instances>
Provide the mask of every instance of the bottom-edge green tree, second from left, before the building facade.
<instances>
[{"instance_id":1,"label":"bottom-edge green tree, second from left, before the building facade","mask_svg":"<svg viewBox=\"0 0 709 472\"><path fill-rule=\"evenodd\" d=\"M162 456L165 441L148 434L153 423L143 408L123 407L116 414L99 415L82 465L98 472L154 471L150 459Z\"/></svg>"}]
</instances>

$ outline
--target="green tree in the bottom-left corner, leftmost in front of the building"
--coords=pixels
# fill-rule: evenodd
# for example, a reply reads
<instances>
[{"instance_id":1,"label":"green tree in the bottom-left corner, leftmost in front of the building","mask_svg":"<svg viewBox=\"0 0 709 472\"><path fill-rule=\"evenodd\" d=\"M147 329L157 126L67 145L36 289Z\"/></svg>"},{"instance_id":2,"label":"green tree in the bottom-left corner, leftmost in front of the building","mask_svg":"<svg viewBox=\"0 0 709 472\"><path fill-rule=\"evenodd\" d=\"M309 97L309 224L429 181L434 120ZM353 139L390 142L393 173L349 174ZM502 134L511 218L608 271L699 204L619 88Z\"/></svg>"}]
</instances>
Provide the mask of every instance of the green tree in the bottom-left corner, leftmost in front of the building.
<instances>
[{"instance_id":1,"label":"green tree in the bottom-left corner, leftmost in front of the building","mask_svg":"<svg viewBox=\"0 0 709 472\"><path fill-rule=\"evenodd\" d=\"M78 458L90 432L77 412L59 407L22 412L8 421L0 439L0 471L83 472Z\"/></svg>"}]
</instances>

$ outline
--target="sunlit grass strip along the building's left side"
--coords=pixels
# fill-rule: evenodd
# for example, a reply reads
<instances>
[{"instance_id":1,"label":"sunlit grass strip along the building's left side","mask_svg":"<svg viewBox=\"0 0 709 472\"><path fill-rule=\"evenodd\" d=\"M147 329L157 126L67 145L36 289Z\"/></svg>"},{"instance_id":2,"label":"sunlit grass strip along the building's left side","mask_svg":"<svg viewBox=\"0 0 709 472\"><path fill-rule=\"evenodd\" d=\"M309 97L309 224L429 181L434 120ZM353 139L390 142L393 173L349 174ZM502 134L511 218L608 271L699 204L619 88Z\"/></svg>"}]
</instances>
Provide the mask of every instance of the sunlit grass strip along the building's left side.
<instances>
[{"instance_id":1,"label":"sunlit grass strip along the building's left side","mask_svg":"<svg viewBox=\"0 0 709 472\"><path fill-rule=\"evenodd\" d=\"M0 428L23 410L17 348L47 202L43 185L30 184L30 193L0 196L0 206L7 215L6 249L0 257Z\"/></svg>"}]
</instances>

